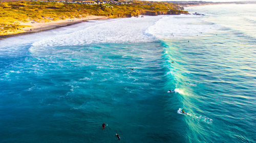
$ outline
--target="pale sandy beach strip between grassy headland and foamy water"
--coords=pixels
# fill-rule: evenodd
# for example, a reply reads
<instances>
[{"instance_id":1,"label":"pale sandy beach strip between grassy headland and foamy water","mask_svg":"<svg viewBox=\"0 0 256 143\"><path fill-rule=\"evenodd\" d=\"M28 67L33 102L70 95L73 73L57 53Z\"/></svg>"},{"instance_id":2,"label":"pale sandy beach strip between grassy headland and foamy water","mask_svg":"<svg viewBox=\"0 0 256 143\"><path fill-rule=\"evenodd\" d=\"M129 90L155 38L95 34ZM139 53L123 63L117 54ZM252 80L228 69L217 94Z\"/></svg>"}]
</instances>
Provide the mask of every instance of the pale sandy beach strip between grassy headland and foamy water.
<instances>
[{"instance_id":1,"label":"pale sandy beach strip between grassy headland and foamy water","mask_svg":"<svg viewBox=\"0 0 256 143\"><path fill-rule=\"evenodd\" d=\"M14 36L21 36L21 35L28 35L32 33L38 33L43 31L52 30L54 28L69 26L81 22L86 22L87 20L106 20L108 17L106 16L95 16L95 15L89 15L88 17L83 18L68 18L65 20L56 20L56 21L50 21L50 22L34 22L29 21L26 23L20 22L22 25L32 26L32 27L25 27L23 28L24 32L21 33L15 33L15 34L8 34L8 35L0 35L0 40L3 40L5 38L14 37ZM34 23L32 23L34 22Z\"/></svg>"}]
</instances>

